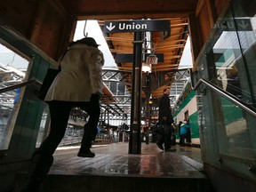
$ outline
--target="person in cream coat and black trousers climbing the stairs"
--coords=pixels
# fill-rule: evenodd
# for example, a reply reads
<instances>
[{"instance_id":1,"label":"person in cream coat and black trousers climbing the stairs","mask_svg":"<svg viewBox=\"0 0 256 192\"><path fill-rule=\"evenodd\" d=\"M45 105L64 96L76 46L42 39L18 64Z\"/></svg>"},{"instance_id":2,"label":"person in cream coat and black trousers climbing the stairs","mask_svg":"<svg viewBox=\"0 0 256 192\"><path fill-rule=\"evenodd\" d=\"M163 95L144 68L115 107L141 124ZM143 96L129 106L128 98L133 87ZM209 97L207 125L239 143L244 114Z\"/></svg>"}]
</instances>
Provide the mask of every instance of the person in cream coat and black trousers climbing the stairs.
<instances>
[{"instance_id":1,"label":"person in cream coat and black trousers climbing the stairs","mask_svg":"<svg viewBox=\"0 0 256 192\"><path fill-rule=\"evenodd\" d=\"M90 116L84 125L84 136L77 156L95 156L90 148L98 132L104 65L104 57L98 46L92 37L84 37L71 43L62 56L61 71L44 98L50 109L51 131L32 156L22 192L39 191L40 183L52 166L52 155L65 134L69 113L74 107L83 109Z\"/></svg>"}]
</instances>

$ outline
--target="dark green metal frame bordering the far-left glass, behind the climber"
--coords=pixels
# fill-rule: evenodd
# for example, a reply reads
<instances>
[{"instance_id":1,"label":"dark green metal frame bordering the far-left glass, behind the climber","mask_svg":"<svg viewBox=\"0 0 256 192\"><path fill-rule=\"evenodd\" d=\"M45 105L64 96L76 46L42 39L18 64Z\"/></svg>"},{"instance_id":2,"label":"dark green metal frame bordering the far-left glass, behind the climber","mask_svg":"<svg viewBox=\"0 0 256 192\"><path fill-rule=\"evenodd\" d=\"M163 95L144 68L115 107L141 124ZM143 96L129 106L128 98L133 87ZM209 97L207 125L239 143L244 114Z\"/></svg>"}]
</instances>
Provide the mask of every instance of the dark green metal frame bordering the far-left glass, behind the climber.
<instances>
[{"instance_id":1,"label":"dark green metal frame bordering the far-left glass, behind the climber","mask_svg":"<svg viewBox=\"0 0 256 192\"><path fill-rule=\"evenodd\" d=\"M25 81L32 77L43 80L47 68L50 65L56 66L54 60L9 28L0 28L0 39L4 44L14 47L14 50L18 50L20 54L30 60ZM35 92L38 88L36 84L28 85L25 88L6 158L28 157L36 148L36 138L46 106L36 97Z\"/></svg>"}]
</instances>

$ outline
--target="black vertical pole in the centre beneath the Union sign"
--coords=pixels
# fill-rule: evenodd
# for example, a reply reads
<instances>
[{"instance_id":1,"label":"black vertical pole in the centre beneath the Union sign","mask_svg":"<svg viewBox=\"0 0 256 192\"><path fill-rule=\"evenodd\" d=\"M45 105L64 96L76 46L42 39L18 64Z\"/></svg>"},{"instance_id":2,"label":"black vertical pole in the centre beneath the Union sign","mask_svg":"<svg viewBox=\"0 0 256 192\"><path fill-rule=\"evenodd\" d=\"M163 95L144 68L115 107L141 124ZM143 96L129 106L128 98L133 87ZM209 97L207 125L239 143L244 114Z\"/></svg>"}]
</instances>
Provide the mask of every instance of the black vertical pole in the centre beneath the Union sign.
<instances>
[{"instance_id":1,"label":"black vertical pole in the centre beneath the Union sign","mask_svg":"<svg viewBox=\"0 0 256 192\"><path fill-rule=\"evenodd\" d=\"M142 33L134 32L133 65L132 65L132 107L131 107L129 154L141 153L141 140L140 140L141 65L142 65Z\"/></svg>"}]
</instances>

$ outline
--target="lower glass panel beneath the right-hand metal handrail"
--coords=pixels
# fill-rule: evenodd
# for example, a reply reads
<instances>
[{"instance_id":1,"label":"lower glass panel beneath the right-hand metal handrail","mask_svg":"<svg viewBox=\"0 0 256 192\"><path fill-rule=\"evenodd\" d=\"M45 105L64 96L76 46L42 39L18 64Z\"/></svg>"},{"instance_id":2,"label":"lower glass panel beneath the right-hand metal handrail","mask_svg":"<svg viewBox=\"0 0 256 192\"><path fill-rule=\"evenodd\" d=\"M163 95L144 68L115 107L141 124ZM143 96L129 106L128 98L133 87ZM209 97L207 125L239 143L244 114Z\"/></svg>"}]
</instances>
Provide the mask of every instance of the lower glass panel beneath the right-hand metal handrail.
<instances>
[{"instance_id":1,"label":"lower glass panel beneath the right-hand metal handrail","mask_svg":"<svg viewBox=\"0 0 256 192\"><path fill-rule=\"evenodd\" d=\"M216 127L220 155L255 159L256 119L225 97L221 103L223 127ZM220 125L220 124L219 124Z\"/></svg>"}]
</instances>

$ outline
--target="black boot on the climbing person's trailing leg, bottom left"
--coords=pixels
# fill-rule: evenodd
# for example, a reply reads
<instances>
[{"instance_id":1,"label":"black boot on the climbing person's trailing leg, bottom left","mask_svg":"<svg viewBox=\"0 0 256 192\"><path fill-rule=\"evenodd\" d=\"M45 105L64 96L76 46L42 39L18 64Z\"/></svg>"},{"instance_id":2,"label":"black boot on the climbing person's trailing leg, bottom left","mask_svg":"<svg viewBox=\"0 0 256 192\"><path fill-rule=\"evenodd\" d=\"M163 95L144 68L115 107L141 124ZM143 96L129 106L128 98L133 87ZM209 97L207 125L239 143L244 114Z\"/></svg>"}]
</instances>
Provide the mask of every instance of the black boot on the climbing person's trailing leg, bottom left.
<instances>
[{"instance_id":1,"label":"black boot on the climbing person's trailing leg, bottom left","mask_svg":"<svg viewBox=\"0 0 256 192\"><path fill-rule=\"evenodd\" d=\"M53 156L36 152L28 168L27 178L20 192L37 192L40 184L52 166Z\"/></svg>"}]
</instances>

